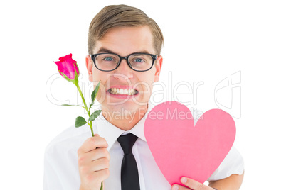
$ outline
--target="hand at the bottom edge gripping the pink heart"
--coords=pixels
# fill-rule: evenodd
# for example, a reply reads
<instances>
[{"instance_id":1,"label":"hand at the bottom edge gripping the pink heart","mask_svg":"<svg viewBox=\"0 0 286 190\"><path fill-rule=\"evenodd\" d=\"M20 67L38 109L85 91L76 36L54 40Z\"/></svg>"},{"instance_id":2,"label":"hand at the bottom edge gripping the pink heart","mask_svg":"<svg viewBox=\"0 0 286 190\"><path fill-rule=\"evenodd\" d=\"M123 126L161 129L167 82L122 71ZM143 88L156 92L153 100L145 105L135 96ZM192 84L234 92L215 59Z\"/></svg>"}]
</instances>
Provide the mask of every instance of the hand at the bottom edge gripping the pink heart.
<instances>
[{"instance_id":1,"label":"hand at the bottom edge gripping the pink heart","mask_svg":"<svg viewBox=\"0 0 286 190\"><path fill-rule=\"evenodd\" d=\"M181 183L184 184L185 186L188 186L189 188L186 188L185 186L181 186L178 184L172 185L171 189L172 190L187 190L187 189L193 189L193 190L214 190L210 186L206 186L204 184L201 184L200 182L194 180L194 179L189 179L187 177L182 177L181 178Z\"/></svg>"}]
</instances>

